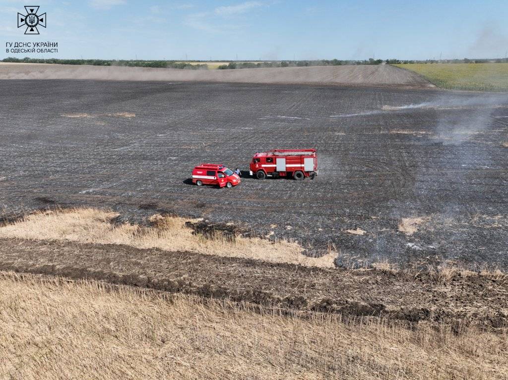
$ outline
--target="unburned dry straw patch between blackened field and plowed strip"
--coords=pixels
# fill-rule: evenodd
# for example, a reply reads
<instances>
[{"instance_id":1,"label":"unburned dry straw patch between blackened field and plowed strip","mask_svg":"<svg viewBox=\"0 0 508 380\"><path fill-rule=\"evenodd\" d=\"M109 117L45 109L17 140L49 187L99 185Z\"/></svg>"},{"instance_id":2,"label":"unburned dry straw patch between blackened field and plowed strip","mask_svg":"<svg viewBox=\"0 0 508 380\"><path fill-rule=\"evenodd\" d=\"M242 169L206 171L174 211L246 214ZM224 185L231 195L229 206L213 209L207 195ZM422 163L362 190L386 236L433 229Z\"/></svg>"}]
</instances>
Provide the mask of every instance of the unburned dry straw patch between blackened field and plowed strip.
<instances>
[{"instance_id":1,"label":"unburned dry straw patch between blackened field and plowed strip","mask_svg":"<svg viewBox=\"0 0 508 380\"><path fill-rule=\"evenodd\" d=\"M258 237L236 236L233 239L216 232L211 237L194 233L185 225L190 219L151 218L152 226L124 223L114 225L118 214L97 209L53 210L28 215L0 227L0 237L31 240L71 240L82 243L122 244L136 248L160 248L208 255L260 259L305 266L334 267L336 252L307 257L304 249L289 241L269 241ZM196 220L194 220L196 221Z\"/></svg>"}]
</instances>

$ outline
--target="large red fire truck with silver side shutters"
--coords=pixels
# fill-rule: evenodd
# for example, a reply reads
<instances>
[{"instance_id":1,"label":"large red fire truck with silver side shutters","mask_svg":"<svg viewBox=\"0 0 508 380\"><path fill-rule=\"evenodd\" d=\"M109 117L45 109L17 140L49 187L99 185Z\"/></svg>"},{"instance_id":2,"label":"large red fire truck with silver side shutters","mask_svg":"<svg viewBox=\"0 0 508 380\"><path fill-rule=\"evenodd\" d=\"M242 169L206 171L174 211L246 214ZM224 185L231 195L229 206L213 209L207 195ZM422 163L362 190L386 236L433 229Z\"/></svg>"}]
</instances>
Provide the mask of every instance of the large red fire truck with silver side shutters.
<instances>
[{"instance_id":1,"label":"large red fire truck with silver side shutters","mask_svg":"<svg viewBox=\"0 0 508 380\"><path fill-rule=\"evenodd\" d=\"M256 153L250 161L250 175L260 180L267 176L303 180L317 172L315 149L276 149Z\"/></svg>"}]
</instances>

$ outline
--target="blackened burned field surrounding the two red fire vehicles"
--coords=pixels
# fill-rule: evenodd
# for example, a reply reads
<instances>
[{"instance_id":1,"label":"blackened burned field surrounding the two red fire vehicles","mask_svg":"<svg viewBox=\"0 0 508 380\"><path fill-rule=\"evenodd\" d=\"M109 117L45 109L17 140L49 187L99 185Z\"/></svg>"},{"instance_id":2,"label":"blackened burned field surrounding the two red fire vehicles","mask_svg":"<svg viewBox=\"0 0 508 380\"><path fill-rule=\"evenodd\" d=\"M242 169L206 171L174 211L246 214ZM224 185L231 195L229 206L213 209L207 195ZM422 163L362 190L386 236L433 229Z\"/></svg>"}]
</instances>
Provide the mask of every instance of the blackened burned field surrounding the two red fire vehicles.
<instances>
[{"instance_id":1,"label":"blackened burned field surrounding the two red fire vehicles","mask_svg":"<svg viewBox=\"0 0 508 380\"><path fill-rule=\"evenodd\" d=\"M119 221L233 222L309 255L335 249L338 266L508 266L504 94L67 80L0 91L4 219L107 207ZM313 181L190 185L197 163L248 170L255 152L307 147L318 150Z\"/></svg>"}]
</instances>

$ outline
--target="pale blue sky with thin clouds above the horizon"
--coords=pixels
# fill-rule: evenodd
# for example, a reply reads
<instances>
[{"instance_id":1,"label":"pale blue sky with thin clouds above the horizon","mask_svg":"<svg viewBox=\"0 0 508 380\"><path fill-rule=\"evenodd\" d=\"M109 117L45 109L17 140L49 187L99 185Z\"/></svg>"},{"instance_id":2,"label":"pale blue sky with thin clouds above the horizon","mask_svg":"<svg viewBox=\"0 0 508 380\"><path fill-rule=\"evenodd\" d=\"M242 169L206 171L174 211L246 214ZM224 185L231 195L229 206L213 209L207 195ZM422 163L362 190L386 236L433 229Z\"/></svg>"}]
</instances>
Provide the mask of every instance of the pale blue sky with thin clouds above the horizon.
<instances>
[{"instance_id":1,"label":"pale blue sky with thin clouds above the horizon","mask_svg":"<svg viewBox=\"0 0 508 380\"><path fill-rule=\"evenodd\" d=\"M508 2L500 0L36 3L47 27L25 36L17 27L25 1L0 0L0 59L451 59L508 51ZM58 42L58 53L6 53L6 42L23 41Z\"/></svg>"}]
</instances>

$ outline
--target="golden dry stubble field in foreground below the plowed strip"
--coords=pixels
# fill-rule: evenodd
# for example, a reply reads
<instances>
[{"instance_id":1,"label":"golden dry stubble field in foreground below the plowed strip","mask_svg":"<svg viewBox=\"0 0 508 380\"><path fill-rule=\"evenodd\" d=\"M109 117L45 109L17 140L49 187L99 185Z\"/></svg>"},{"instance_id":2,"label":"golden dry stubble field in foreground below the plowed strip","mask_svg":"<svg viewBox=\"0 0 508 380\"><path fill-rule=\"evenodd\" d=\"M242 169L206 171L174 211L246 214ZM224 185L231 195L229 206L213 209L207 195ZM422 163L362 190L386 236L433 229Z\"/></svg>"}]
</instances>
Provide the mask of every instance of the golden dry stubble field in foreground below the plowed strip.
<instances>
[{"instance_id":1,"label":"golden dry stubble field in foreground below the plowed strip","mask_svg":"<svg viewBox=\"0 0 508 380\"><path fill-rule=\"evenodd\" d=\"M505 332L306 319L0 272L0 377L506 378ZM347 322L347 323L344 323Z\"/></svg>"}]
</instances>

